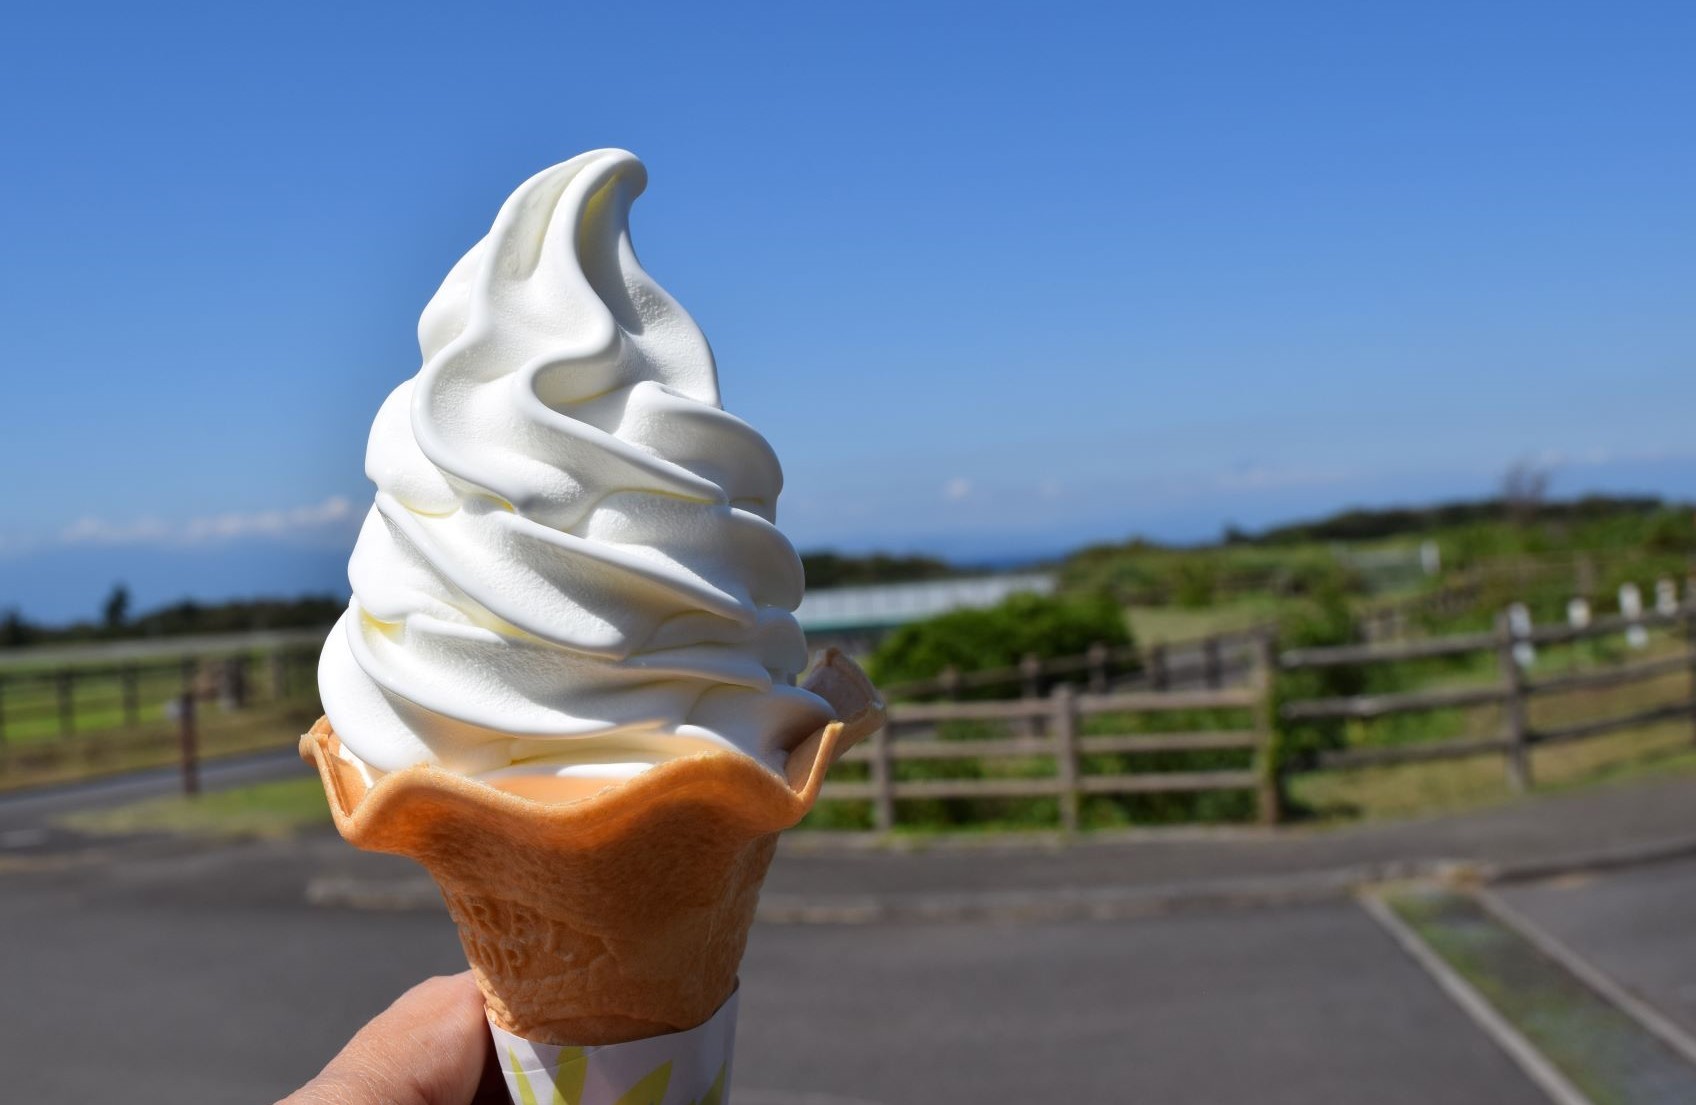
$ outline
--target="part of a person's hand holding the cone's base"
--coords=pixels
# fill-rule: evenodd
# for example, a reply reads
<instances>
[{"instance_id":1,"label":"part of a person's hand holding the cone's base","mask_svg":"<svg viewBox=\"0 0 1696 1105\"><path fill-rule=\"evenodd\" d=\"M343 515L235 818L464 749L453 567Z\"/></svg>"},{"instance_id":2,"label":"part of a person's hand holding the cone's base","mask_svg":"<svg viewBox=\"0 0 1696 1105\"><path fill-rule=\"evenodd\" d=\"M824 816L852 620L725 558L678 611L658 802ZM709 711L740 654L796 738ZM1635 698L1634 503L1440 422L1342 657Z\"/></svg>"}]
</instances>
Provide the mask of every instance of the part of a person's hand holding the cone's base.
<instances>
[{"instance_id":1,"label":"part of a person's hand holding the cone's base","mask_svg":"<svg viewBox=\"0 0 1696 1105\"><path fill-rule=\"evenodd\" d=\"M278 1105L507 1105L471 973L407 990Z\"/></svg>"}]
</instances>

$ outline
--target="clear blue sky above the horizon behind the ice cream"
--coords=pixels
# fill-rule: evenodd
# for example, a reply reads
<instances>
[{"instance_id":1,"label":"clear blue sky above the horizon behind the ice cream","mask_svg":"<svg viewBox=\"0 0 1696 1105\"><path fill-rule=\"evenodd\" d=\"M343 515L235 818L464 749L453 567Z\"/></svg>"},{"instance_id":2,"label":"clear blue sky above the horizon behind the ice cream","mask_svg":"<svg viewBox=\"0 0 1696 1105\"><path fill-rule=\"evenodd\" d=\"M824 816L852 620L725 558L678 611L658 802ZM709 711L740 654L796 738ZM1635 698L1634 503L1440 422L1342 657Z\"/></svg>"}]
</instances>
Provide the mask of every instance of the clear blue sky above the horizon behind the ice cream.
<instances>
[{"instance_id":1,"label":"clear blue sky above the horizon behind the ice cream","mask_svg":"<svg viewBox=\"0 0 1696 1105\"><path fill-rule=\"evenodd\" d=\"M0 36L0 607L344 586L417 314L626 146L802 547L1696 495L1696 7L54 5Z\"/></svg>"}]
</instances>

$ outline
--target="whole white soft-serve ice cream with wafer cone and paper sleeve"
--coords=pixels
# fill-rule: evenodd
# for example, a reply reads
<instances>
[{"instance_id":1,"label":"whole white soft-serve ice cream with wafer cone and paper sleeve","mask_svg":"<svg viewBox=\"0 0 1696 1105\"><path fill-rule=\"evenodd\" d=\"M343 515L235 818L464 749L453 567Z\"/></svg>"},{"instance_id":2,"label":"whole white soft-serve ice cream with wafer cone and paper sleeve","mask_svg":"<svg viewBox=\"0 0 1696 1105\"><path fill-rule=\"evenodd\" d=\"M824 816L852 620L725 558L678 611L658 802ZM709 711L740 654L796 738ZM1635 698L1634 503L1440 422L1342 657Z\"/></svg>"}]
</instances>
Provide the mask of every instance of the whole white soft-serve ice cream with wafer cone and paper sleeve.
<instances>
[{"instance_id":1,"label":"whole white soft-serve ice cream with wafer cone and paper sleeve","mask_svg":"<svg viewBox=\"0 0 1696 1105\"><path fill-rule=\"evenodd\" d=\"M724 1098L777 837L884 722L834 651L795 686L777 459L636 263L643 183L622 151L534 176L431 300L300 737L338 832L441 888L519 1103L633 1100L631 1056Z\"/></svg>"}]
</instances>

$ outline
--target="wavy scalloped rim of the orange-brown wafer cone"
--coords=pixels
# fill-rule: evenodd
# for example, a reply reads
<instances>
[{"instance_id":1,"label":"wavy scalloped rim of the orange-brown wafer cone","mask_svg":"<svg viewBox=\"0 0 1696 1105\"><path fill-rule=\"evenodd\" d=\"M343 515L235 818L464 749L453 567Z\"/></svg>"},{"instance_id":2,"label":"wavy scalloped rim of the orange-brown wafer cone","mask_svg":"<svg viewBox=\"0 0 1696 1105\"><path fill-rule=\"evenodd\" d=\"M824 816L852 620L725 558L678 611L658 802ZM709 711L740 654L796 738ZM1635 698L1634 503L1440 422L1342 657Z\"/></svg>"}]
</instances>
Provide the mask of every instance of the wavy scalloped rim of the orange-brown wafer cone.
<instances>
[{"instance_id":1,"label":"wavy scalloped rim of the orange-brown wafer cone","mask_svg":"<svg viewBox=\"0 0 1696 1105\"><path fill-rule=\"evenodd\" d=\"M799 822L817 800L829 766L884 725L884 702L872 681L836 649L824 651L804 686L831 703L838 720L801 741L782 776L743 752L711 751L655 764L594 795L558 803L514 795L434 764L390 771L366 786L339 756L341 741L327 717L300 737L300 758L317 768L341 836L375 851L405 851L385 827L407 820L392 817L395 808L419 802L441 813L480 807L502 820L553 832L583 824L605 832L609 822L641 817L656 803L700 802L722 807L724 815L743 820L750 832L775 832Z\"/></svg>"}]
</instances>

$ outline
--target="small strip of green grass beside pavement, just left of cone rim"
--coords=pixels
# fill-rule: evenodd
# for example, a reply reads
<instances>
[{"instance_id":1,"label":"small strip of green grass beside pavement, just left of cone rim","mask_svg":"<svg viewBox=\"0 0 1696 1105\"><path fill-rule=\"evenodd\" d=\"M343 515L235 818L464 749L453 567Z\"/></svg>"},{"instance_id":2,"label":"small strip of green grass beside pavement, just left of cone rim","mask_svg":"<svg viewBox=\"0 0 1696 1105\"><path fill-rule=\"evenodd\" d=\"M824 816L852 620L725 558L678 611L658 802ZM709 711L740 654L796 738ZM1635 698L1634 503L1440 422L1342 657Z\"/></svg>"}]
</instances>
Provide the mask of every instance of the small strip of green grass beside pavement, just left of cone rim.
<instances>
[{"instance_id":1,"label":"small strip of green grass beside pavement, just left of cone rim","mask_svg":"<svg viewBox=\"0 0 1696 1105\"><path fill-rule=\"evenodd\" d=\"M290 837L329 824L329 807L317 776L259 783L188 798L149 798L112 810L70 813L61 825L93 836L168 832L195 837Z\"/></svg>"}]
</instances>

